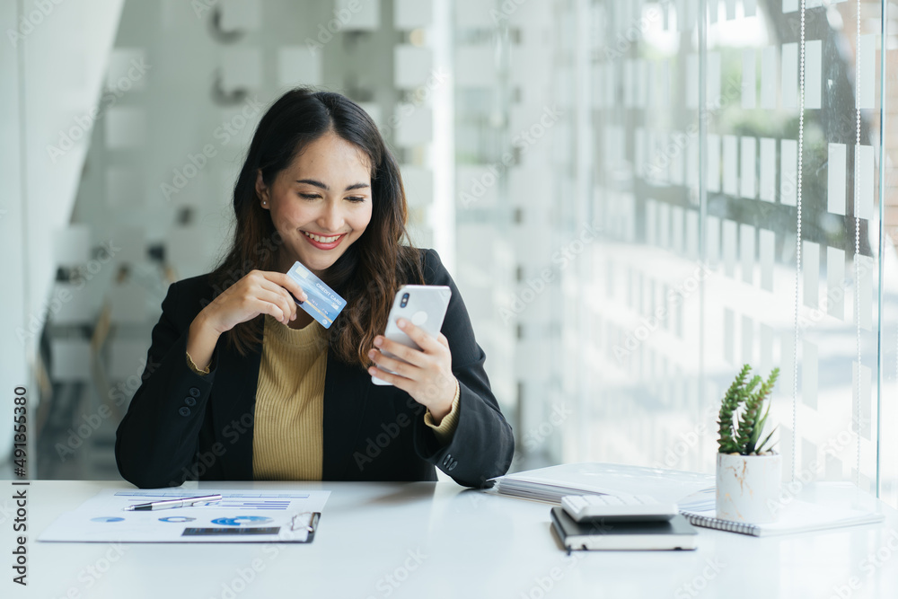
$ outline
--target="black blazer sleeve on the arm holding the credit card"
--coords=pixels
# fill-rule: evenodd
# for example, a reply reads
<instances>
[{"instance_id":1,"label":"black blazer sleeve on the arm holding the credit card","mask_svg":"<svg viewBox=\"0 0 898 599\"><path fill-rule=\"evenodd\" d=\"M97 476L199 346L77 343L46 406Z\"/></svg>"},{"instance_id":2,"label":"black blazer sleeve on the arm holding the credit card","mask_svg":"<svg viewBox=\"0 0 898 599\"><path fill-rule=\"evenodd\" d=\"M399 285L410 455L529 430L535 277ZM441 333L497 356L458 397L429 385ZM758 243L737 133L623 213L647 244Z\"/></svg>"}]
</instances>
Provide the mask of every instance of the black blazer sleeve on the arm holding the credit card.
<instances>
[{"instance_id":1,"label":"black blazer sleeve on the arm holding the credit card","mask_svg":"<svg viewBox=\"0 0 898 599\"><path fill-rule=\"evenodd\" d=\"M217 349L209 374L197 374L188 366L187 336L194 315L179 304L181 286L169 286L141 384L116 431L119 473L143 489L177 486L188 478L215 382Z\"/></svg>"}]
</instances>

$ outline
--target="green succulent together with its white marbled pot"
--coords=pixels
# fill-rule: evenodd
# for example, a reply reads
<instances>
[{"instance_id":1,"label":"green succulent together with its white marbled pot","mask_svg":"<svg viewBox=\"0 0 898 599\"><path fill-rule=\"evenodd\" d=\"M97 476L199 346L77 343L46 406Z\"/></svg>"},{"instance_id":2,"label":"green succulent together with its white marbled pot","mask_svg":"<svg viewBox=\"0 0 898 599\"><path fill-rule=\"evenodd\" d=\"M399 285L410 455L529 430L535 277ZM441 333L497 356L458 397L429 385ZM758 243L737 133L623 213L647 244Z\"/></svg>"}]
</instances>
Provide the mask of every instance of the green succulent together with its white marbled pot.
<instances>
[{"instance_id":1,"label":"green succulent together with its white marbled pot","mask_svg":"<svg viewBox=\"0 0 898 599\"><path fill-rule=\"evenodd\" d=\"M770 392L779 368L766 381L751 366L736 374L720 405L718 418L717 515L752 524L775 522L782 456L763 436L770 414Z\"/></svg>"}]
</instances>

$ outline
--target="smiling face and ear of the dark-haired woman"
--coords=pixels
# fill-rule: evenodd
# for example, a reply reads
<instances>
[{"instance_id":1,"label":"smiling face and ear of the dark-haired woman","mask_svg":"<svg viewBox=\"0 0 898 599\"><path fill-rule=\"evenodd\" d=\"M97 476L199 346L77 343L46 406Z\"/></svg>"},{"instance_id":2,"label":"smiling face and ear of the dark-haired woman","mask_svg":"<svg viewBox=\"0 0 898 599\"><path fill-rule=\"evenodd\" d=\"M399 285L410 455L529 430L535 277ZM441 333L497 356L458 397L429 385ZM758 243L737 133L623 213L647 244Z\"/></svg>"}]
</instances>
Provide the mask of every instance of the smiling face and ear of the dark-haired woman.
<instances>
[{"instance_id":1,"label":"smiling face and ear of the dark-haired woman","mask_svg":"<svg viewBox=\"0 0 898 599\"><path fill-rule=\"evenodd\" d=\"M306 145L270 187L260 171L256 191L284 240L285 272L299 260L321 277L371 221L368 158L333 133Z\"/></svg>"}]
</instances>

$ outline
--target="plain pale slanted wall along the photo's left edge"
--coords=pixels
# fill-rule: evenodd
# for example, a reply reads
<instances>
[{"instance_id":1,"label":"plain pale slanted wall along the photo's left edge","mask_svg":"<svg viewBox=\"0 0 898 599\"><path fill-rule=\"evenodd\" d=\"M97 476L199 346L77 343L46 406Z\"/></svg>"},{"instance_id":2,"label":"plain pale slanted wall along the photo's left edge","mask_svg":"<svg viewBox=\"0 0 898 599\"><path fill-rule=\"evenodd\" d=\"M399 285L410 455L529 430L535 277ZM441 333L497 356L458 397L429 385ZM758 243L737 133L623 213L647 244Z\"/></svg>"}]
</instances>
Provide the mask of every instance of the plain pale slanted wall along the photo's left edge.
<instances>
[{"instance_id":1,"label":"plain pale slanted wall along the photo's left edge","mask_svg":"<svg viewBox=\"0 0 898 599\"><path fill-rule=\"evenodd\" d=\"M0 52L0 175L6 192L0 198L5 211L0 213L0 249L9 257L0 295L0 309L9 316L0 322L2 454L12 442L13 387L28 384L30 396L37 397L28 367L40 336L41 327L34 325L46 319L56 269L53 240L71 218L92 130L91 110L122 2L0 3L2 43L9 46ZM59 147L60 138L75 130L83 135L70 148L65 145L61 156L51 156L48 146ZM36 409L32 401L31 440L37 433Z\"/></svg>"}]
</instances>

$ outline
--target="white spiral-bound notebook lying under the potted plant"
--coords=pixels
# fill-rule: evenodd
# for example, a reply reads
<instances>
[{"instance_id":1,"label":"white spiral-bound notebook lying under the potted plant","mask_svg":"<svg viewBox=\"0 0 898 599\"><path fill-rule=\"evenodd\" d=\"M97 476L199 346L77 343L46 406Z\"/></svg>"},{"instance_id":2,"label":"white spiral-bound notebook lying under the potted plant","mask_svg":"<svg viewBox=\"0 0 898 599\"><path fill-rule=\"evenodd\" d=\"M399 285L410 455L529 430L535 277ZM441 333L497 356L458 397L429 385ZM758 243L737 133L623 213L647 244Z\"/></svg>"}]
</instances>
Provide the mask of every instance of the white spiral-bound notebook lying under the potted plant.
<instances>
[{"instance_id":1,"label":"white spiral-bound notebook lying under the potted plant","mask_svg":"<svg viewBox=\"0 0 898 599\"><path fill-rule=\"evenodd\" d=\"M681 506L682 507L682 506ZM715 528L729 533L751 534L756 537L776 536L778 534L810 533L830 528L858 526L860 524L876 524L883 522L885 516L874 512L849 507L821 506L799 499L793 499L779 512L779 520L770 524L749 524L719 520L716 511L711 508L701 511L681 509L691 524L705 528Z\"/></svg>"}]
</instances>

